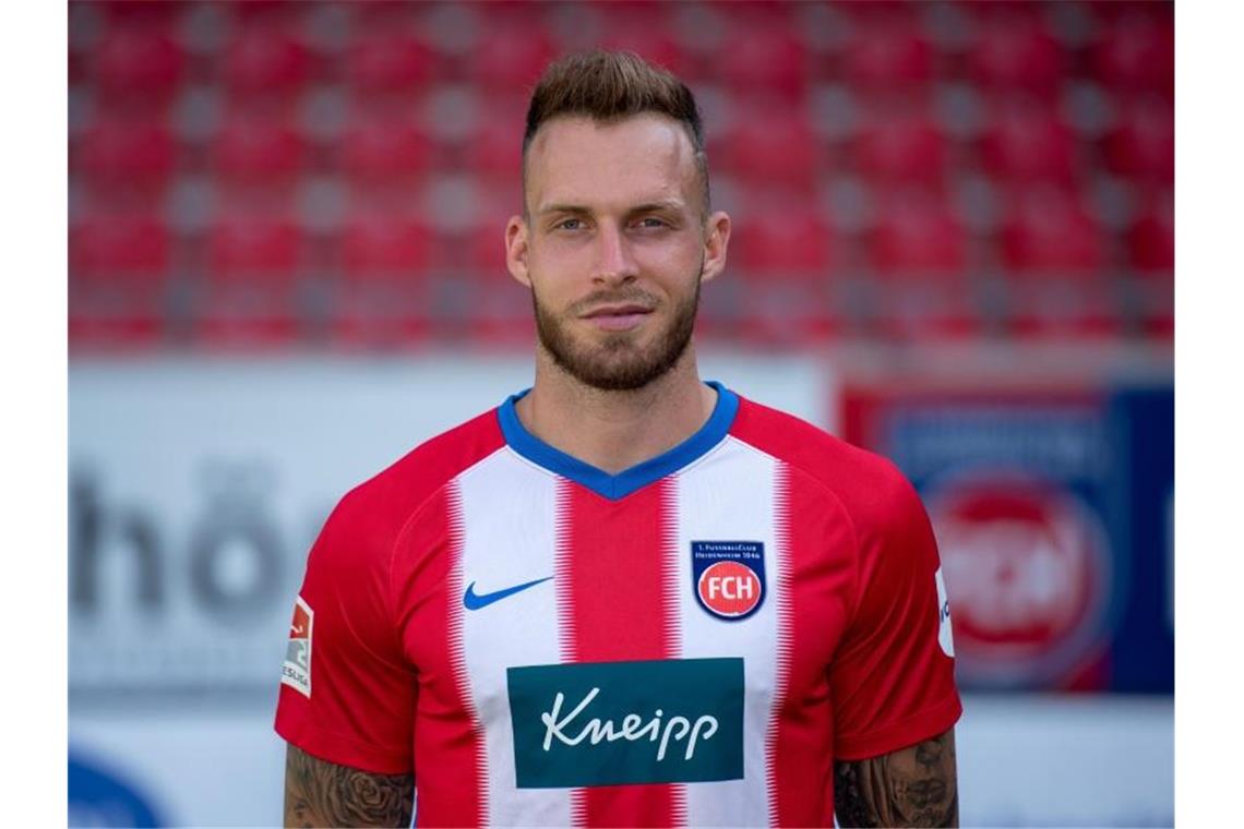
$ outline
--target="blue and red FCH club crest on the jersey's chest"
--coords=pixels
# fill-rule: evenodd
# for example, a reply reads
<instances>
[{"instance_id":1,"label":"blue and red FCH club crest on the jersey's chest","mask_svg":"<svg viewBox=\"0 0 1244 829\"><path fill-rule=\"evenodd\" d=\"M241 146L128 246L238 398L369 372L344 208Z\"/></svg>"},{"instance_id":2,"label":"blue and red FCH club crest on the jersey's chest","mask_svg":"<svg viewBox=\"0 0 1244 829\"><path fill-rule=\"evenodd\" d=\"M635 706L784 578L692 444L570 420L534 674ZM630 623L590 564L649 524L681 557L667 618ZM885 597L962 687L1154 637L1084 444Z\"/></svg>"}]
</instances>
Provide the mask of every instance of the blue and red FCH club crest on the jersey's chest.
<instances>
[{"instance_id":1,"label":"blue and red FCH club crest on the jersey's chest","mask_svg":"<svg viewBox=\"0 0 1244 829\"><path fill-rule=\"evenodd\" d=\"M710 615L739 621L765 599L765 546L759 541L693 541L695 600Z\"/></svg>"}]
</instances>

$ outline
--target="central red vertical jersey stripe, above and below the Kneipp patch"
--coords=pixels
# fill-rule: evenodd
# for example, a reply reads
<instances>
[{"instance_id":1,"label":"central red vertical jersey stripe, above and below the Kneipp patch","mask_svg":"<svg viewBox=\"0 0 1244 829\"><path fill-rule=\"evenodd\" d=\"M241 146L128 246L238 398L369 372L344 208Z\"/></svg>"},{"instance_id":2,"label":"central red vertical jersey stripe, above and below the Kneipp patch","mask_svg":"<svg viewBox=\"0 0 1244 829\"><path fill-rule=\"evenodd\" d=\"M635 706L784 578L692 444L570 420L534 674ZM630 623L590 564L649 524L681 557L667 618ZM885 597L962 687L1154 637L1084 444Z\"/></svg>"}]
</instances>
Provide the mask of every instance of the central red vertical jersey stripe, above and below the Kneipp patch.
<instances>
[{"instance_id":1,"label":"central red vertical jersey stripe, above and below the Kneipp patch","mask_svg":"<svg viewBox=\"0 0 1244 829\"><path fill-rule=\"evenodd\" d=\"M668 480L610 501L566 483L560 490L557 582L562 660L610 662L673 659L678 636L667 613L672 542ZM653 598L659 600L653 603ZM576 825L669 827L682 820L682 794L671 784L605 785L576 790Z\"/></svg>"}]
</instances>

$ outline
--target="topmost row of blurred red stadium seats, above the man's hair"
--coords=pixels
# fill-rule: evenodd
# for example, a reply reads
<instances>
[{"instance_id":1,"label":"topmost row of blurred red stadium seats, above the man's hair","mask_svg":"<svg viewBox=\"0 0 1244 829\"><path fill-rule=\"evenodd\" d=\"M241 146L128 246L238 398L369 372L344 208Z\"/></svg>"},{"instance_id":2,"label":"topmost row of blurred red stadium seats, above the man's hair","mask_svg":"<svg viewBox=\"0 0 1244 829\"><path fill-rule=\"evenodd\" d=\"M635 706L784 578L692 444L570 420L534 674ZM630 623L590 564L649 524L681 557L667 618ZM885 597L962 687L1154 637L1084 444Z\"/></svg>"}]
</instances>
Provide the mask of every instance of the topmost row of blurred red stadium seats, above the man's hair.
<instances>
[{"instance_id":1,"label":"topmost row of blurred red stadium seats, above the man's hair","mask_svg":"<svg viewBox=\"0 0 1244 829\"><path fill-rule=\"evenodd\" d=\"M241 98L326 80L366 93L459 78L505 89L600 44L770 96L824 78L891 91L954 75L1045 94L1087 75L1169 96L1172 22L1156 2L77 2L70 80L136 106L194 80Z\"/></svg>"}]
</instances>

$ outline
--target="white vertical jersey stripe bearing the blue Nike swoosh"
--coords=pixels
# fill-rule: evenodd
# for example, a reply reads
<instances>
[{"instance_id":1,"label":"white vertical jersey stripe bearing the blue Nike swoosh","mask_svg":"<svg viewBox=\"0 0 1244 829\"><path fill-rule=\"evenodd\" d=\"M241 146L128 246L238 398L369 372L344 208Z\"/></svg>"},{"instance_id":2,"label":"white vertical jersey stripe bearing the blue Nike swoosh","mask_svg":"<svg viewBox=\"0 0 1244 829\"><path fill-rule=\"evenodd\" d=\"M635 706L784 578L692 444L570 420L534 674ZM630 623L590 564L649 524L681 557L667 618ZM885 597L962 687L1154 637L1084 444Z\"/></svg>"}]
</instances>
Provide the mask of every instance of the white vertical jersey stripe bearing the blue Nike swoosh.
<instances>
[{"instance_id":1,"label":"white vertical jersey stripe bearing the blue Nike swoosh","mask_svg":"<svg viewBox=\"0 0 1244 829\"><path fill-rule=\"evenodd\" d=\"M478 610L463 609L463 590L476 594L555 574L556 481L513 451L498 452L458 481L463 515L462 585L453 595L465 616L465 664L471 702L483 722L488 771L486 822L569 825L566 789L519 789L506 667L556 665L559 602L556 579L536 584ZM521 493L498 511L498 492Z\"/></svg>"}]
</instances>

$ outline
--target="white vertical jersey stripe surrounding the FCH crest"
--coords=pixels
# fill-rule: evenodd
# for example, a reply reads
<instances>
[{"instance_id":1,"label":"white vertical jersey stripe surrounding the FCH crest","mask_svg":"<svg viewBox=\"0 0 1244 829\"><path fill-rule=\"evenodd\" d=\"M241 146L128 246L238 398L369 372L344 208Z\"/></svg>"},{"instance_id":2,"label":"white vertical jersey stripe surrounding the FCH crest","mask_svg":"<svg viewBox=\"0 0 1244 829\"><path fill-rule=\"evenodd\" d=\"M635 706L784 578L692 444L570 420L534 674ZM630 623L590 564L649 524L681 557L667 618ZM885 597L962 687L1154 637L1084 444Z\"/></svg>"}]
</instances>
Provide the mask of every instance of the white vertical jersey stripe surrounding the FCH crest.
<instances>
[{"instance_id":1,"label":"white vertical jersey stripe surrounding the FCH crest","mask_svg":"<svg viewBox=\"0 0 1244 829\"><path fill-rule=\"evenodd\" d=\"M773 823L766 789L773 764L769 735L780 680L774 644L780 629L787 562L774 521L776 461L728 439L678 475L675 544L683 650L697 657L741 656L746 698L741 781L687 785L687 824L760 827ZM714 616L695 600L693 541L751 541L764 544L765 587L760 608L741 620Z\"/></svg>"}]
</instances>

